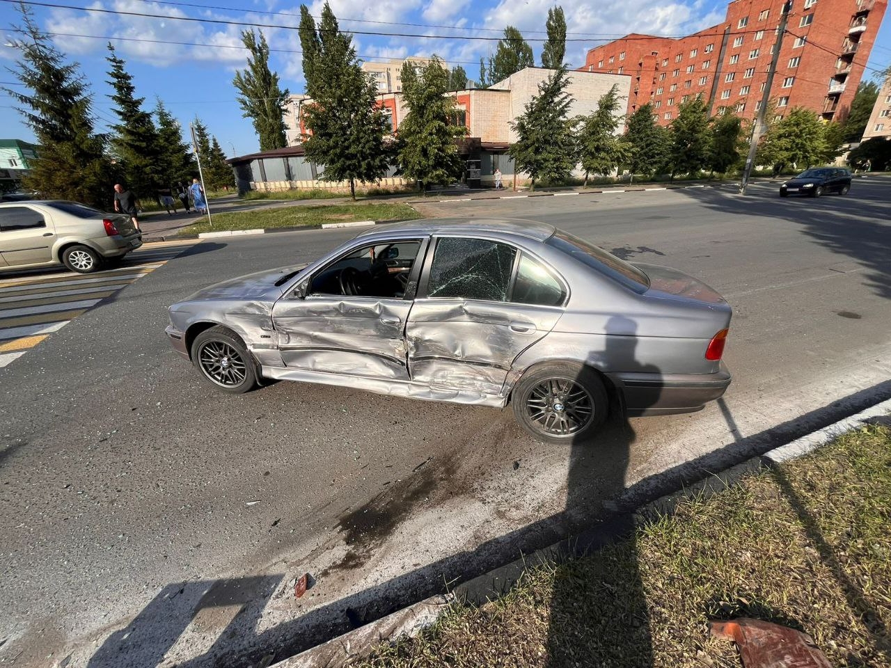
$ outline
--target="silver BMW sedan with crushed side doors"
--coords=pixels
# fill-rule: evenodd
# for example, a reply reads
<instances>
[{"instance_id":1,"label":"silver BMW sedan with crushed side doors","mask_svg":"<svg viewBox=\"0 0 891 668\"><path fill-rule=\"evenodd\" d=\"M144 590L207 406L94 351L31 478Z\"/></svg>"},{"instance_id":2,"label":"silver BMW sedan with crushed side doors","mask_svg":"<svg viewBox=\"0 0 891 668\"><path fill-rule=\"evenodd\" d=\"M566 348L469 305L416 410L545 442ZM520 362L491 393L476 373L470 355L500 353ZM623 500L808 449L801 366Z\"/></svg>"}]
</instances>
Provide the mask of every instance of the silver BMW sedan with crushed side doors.
<instances>
[{"instance_id":1,"label":"silver BMW sedan with crushed side doors","mask_svg":"<svg viewBox=\"0 0 891 668\"><path fill-rule=\"evenodd\" d=\"M168 337L227 392L262 379L503 407L541 440L721 395L732 310L707 285L544 224L391 224L310 265L170 306Z\"/></svg>"}]
</instances>

